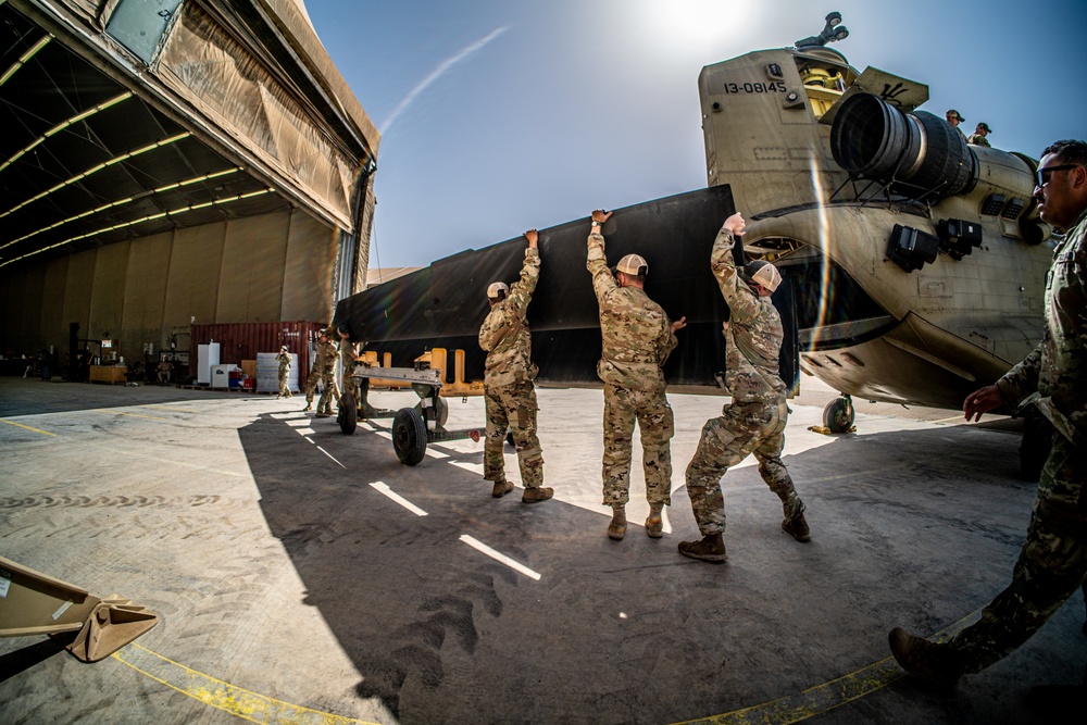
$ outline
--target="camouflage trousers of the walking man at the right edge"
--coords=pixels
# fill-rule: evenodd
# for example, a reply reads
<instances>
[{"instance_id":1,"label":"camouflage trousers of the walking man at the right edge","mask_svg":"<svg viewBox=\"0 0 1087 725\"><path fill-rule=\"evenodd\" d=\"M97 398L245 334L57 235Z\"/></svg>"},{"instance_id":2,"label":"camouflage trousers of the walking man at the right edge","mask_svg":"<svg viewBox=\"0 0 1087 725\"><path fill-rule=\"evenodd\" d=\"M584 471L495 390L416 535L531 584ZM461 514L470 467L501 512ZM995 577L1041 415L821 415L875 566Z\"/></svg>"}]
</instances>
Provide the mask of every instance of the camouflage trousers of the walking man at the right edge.
<instances>
[{"instance_id":1,"label":"camouflage trousers of the walking man at the right edge","mask_svg":"<svg viewBox=\"0 0 1087 725\"><path fill-rule=\"evenodd\" d=\"M966 672L1003 659L1030 638L1087 576L1087 450L1060 434L1041 471L1023 551L1012 583L982 610L982 618L950 645Z\"/></svg>"}]
</instances>

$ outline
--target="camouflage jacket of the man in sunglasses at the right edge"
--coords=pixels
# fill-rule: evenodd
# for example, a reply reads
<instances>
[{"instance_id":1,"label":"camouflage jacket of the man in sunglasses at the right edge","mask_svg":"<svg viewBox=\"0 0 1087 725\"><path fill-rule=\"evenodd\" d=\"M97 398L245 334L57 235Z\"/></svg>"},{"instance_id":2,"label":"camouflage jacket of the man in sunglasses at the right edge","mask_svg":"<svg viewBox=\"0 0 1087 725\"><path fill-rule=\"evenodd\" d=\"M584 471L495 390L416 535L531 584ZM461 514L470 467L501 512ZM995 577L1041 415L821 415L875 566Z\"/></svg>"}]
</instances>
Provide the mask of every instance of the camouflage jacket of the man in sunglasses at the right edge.
<instances>
[{"instance_id":1,"label":"camouflage jacket of the man in sunglasses at the right edge","mask_svg":"<svg viewBox=\"0 0 1087 725\"><path fill-rule=\"evenodd\" d=\"M997 385L1010 404L1035 403L1065 438L1087 447L1087 209L1053 251L1041 342Z\"/></svg>"}]
</instances>

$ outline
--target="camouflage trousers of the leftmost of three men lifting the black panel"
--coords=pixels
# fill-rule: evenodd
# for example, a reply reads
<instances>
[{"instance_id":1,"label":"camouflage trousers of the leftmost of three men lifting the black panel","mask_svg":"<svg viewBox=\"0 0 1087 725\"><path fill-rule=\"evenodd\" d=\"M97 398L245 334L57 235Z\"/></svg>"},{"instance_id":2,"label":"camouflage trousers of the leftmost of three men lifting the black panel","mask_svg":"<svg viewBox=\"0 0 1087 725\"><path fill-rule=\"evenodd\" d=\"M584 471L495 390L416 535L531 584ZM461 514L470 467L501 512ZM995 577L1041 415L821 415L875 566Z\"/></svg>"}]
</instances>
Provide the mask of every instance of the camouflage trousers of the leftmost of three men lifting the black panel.
<instances>
[{"instance_id":1,"label":"camouflage trousers of the leftmost of three men lifting the black panel","mask_svg":"<svg viewBox=\"0 0 1087 725\"><path fill-rule=\"evenodd\" d=\"M483 453L483 477L505 480L505 429L513 432L513 445L521 464L521 480L525 488L544 485L544 450L536 436L536 388L532 382L500 387L485 387L487 433Z\"/></svg>"}]
</instances>

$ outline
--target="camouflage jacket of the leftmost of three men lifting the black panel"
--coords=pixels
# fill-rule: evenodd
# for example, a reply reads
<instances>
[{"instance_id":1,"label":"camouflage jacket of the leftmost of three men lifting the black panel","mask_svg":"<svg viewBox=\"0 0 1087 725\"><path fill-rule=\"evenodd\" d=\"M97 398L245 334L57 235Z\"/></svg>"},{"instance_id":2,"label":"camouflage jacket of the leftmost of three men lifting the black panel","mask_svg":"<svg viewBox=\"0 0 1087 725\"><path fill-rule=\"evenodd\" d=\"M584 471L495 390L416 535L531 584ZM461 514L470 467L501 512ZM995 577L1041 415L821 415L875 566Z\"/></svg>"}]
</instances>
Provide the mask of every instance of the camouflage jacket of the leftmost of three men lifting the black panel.
<instances>
[{"instance_id":1,"label":"camouflage jacket of the leftmost of three men lifting the black panel","mask_svg":"<svg viewBox=\"0 0 1087 725\"><path fill-rule=\"evenodd\" d=\"M539 250L528 248L521 267L521 280L513 283L505 299L490 309L479 327L479 347L487 352L484 385L488 388L525 383L536 377L532 330L525 315L539 276Z\"/></svg>"}]
</instances>

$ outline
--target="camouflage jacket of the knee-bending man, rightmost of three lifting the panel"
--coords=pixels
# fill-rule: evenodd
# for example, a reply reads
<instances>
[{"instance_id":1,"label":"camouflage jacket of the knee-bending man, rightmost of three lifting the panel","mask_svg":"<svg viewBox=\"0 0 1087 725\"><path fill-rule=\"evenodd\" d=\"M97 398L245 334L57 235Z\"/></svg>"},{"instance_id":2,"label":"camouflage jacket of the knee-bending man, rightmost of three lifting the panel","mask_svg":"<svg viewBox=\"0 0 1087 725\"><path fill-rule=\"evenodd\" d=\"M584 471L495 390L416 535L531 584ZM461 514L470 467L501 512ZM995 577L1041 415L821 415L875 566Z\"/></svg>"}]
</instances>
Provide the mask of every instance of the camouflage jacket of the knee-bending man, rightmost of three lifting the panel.
<instances>
[{"instance_id":1,"label":"camouflage jacket of the knee-bending man, rightmost of three lifting the panel","mask_svg":"<svg viewBox=\"0 0 1087 725\"><path fill-rule=\"evenodd\" d=\"M725 385L733 402L783 400L785 383L778 355L785 333L769 297L760 297L740 278L733 260L733 233L722 228L710 252L710 268L728 303L725 330Z\"/></svg>"}]
</instances>

